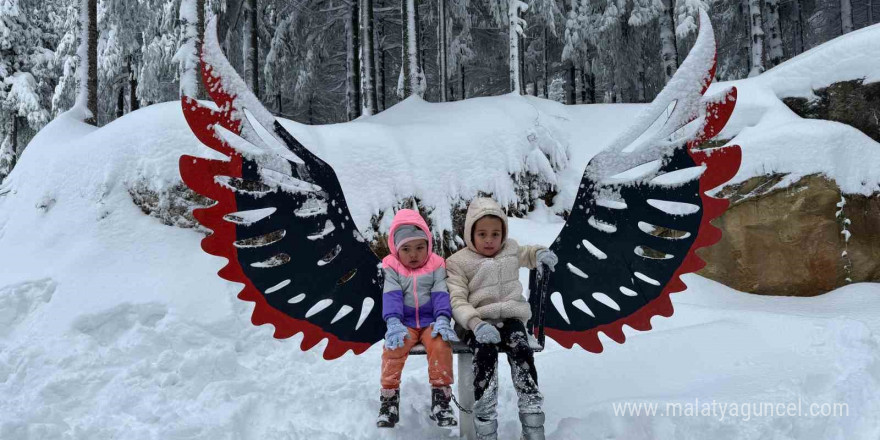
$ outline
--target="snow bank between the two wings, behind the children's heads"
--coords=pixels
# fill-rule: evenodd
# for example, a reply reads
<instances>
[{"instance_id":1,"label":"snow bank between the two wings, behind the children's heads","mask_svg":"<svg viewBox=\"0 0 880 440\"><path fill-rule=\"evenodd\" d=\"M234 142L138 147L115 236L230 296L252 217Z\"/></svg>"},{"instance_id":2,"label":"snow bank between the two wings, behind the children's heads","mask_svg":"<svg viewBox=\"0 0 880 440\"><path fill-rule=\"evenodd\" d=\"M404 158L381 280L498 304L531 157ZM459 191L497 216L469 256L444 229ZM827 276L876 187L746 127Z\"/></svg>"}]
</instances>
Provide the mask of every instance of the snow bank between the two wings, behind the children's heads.
<instances>
[{"instance_id":1,"label":"snow bank between the two wings, behind the children's heads","mask_svg":"<svg viewBox=\"0 0 880 440\"><path fill-rule=\"evenodd\" d=\"M535 101L504 95L429 103L411 97L352 123L282 124L333 166L361 231L372 216L416 197L439 232L452 229L452 208L481 191L502 205L517 205L513 175L557 182L557 172L568 165L565 130Z\"/></svg>"}]
</instances>

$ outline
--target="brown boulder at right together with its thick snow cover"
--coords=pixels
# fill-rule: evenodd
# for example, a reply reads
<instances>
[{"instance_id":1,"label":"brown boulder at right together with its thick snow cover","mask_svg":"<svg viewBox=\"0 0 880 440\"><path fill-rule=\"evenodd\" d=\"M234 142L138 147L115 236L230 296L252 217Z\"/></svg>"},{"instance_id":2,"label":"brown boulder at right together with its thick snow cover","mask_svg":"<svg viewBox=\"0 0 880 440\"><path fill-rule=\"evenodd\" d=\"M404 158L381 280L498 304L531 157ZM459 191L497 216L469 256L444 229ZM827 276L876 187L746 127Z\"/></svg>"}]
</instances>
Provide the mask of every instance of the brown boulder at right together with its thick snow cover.
<instances>
[{"instance_id":1,"label":"brown boulder at right together with its thick snow cover","mask_svg":"<svg viewBox=\"0 0 880 440\"><path fill-rule=\"evenodd\" d=\"M877 81L880 25L710 88L739 90L719 137L742 146L743 163L717 190L732 205L715 221L721 241L700 251L702 275L774 295L880 280L880 132L870 131L880 101L862 94Z\"/></svg>"}]
</instances>

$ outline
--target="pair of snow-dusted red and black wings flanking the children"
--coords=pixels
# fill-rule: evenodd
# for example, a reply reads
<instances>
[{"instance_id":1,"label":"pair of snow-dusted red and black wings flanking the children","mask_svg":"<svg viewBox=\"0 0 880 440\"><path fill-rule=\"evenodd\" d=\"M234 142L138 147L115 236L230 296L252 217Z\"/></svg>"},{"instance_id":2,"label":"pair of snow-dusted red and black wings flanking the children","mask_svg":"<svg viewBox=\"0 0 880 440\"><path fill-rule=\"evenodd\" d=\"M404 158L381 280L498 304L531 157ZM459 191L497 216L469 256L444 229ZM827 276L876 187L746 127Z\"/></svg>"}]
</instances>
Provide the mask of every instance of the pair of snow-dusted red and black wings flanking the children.
<instances>
[{"instance_id":1,"label":"pair of snow-dusted red and black wings flanking the children","mask_svg":"<svg viewBox=\"0 0 880 440\"><path fill-rule=\"evenodd\" d=\"M547 281L553 307L545 330L563 346L599 352L599 331L622 343L623 325L647 330L652 316L670 316L669 294L684 289L679 276L704 264L694 250L720 238L709 221L727 202L705 191L733 176L740 150L697 149L721 130L736 99L735 89L703 97L714 57L701 14L697 43L666 88L587 165L551 247L560 264ZM180 173L216 202L194 212L213 231L202 248L228 260L218 274L244 285L239 298L254 302L255 325L272 324L276 338L302 332L303 350L327 339L326 359L364 352L385 330L380 261L355 227L336 174L247 89L213 23L201 61L216 109L184 97L183 111L196 137L223 158L182 156Z\"/></svg>"}]
</instances>

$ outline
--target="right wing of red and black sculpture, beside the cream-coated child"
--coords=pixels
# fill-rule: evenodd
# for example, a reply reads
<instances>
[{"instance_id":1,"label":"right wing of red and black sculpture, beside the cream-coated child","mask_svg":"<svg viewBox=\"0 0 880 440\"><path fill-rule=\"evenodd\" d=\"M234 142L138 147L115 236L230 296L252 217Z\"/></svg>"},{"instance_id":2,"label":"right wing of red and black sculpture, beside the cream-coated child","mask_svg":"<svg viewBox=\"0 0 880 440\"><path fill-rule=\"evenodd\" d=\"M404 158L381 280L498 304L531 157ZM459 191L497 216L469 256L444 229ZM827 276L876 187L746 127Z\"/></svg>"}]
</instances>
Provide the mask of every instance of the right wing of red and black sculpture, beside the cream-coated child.
<instances>
[{"instance_id":1,"label":"right wing of red and black sculpture, beside the cream-coated child","mask_svg":"<svg viewBox=\"0 0 880 440\"><path fill-rule=\"evenodd\" d=\"M649 330L671 316L679 276L705 263L694 253L714 244L709 222L727 208L706 191L739 169L738 146L700 150L727 123L736 89L703 93L715 73L715 42L705 13L688 58L633 127L594 157L571 215L551 249L545 332L561 345L599 353L599 332L625 341L623 325ZM668 116L667 116L668 115Z\"/></svg>"}]
</instances>

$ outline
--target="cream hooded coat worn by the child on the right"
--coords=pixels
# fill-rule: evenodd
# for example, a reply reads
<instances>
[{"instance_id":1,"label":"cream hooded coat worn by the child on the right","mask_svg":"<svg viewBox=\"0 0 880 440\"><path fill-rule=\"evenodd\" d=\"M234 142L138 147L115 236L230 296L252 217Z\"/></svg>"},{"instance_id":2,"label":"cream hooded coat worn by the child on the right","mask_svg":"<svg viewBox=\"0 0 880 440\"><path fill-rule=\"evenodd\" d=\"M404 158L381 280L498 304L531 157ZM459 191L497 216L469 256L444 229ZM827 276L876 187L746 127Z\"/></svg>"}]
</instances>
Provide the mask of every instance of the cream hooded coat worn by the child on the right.
<instances>
[{"instance_id":1,"label":"cream hooded coat worn by the child on the right","mask_svg":"<svg viewBox=\"0 0 880 440\"><path fill-rule=\"evenodd\" d=\"M471 234L477 220L494 215L503 224L504 245L493 257L484 257L474 247ZM537 252L543 246L520 246L507 238L507 215L495 200L474 199L468 206L464 221L464 240L467 248L446 260L446 284L452 302L455 321L473 331L482 321L498 323L505 319L519 319L523 323L532 315L519 282L519 268L534 269Z\"/></svg>"}]
</instances>

